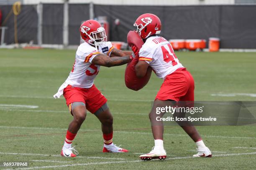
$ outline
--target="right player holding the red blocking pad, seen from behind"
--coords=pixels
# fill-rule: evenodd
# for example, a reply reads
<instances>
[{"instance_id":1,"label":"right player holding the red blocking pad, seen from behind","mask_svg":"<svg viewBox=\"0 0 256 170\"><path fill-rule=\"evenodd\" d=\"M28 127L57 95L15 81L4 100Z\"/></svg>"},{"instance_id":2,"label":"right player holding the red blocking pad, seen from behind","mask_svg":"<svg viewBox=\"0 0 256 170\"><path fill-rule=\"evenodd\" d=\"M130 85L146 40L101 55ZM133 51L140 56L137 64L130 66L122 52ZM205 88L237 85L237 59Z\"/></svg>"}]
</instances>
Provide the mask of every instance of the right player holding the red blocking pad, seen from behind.
<instances>
[{"instance_id":1,"label":"right player holding the red blocking pad, seen from behind","mask_svg":"<svg viewBox=\"0 0 256 170\"><path fill-rule=\"evenodd\" d=\"M140 158L142 160L165 159L164 127L162 122L156 120L156 117L163 116L164 112L157 115L156 107L174 106L174 103L178 101L194 101L194 80L179 62L172 45L164 37L157 36L161 31L161 21L156 15L143 14L137 18L134 26L137 27L137 32L144 42L139 51L137 47L132 46L134 54L139 55L139 61L135 66L137 77L145 76L150 66L157 77L164 79L149 113L155 146L150 153L141 155ZM180 115L174 113L174 116L179 117ZM188 122L178 122L178 124L197 145L198 153L193 157L212 156L193 125Z\"/></svg>"}]
</instances>

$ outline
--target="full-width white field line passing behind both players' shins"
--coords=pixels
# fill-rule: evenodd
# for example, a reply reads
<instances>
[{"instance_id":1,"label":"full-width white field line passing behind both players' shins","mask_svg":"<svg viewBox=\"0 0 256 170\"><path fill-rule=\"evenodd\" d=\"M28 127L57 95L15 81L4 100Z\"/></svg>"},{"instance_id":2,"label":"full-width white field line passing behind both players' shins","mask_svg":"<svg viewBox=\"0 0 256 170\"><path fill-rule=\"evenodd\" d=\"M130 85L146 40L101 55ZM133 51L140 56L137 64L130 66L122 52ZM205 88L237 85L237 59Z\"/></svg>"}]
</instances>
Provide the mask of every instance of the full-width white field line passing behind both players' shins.
<instances>
[{"instance_id":1,"label":"full-width white field line passing behind both players' shins","mask_svg":"<svg viewBox=\"0 0 256 170\"><path fill-rule=\"evenodd\" d=\"M40 127L19 127L19 126L0 126L0 128L67 130L65 128L40 128ZM100 130L90 130L90 129L80 129L79 131L101 132ZM115 133L131 133L131 134L152 135L152 133L148 133L148 132L115 131ZM164 133L164 135L187 136L185 134L171 134L171 133ZM201 136L208 137L208 138L256 139L256 138L253 138L253 137L238 137L238 136L213 136L213 135L201 135Z\"/></svg>"}]
</instances>

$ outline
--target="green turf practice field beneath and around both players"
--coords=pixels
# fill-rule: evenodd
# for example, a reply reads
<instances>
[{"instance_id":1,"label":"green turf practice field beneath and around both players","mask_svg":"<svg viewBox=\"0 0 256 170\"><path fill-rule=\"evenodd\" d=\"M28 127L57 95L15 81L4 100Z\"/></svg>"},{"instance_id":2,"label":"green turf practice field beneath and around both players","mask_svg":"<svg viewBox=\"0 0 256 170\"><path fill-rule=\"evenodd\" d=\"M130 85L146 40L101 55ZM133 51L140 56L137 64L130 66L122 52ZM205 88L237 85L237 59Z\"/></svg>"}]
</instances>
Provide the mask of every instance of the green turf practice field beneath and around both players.
<instances>
[{"instance_id":1,"label":"green turf practice field beneath and around both players","mask_svg":"<svg viewBox=\"0 0 256 170\"><path fill-rule=\"evenodd\" d=\"M176 54L194 76L195 100L256 100L256 53ZM125 66L101 67L95 85L108 98L114 116L114 143L130 152L101 153L100 122L88 113L73 142L79 156L60 157L72 116L64 98L55 100L52 95L66 80L74 55L75 50L0 50L1 164L27 161L30 165L25 169L74 170L256 168L255 125L197 127L213 153L212 158L198 159L191 158L196 153L195 143L183 130L166 126L166 160L139 160L138 156L148 153L154 145L148 112L162 80L152 75L142 90L128 90L124 84Z\"/></svg>"}]
</instances>

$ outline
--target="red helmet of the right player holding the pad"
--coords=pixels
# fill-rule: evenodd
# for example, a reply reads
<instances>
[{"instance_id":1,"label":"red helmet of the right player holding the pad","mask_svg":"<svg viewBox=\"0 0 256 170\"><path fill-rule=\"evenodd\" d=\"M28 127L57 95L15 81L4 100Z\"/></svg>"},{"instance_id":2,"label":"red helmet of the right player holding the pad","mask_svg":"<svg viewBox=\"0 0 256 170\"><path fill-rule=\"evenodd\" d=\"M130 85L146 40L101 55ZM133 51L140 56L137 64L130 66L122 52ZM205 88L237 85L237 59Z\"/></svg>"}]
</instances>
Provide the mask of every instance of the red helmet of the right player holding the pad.
<instances>
[{"instance_id":1,"label":"red helmet of the right player holding the pad","mask_svg":"<svg viewBox=\"0 0 256 170\"><path fill-rule=\"evenodd\" d=\"M133 26L137 27L137 32L142 39L161 32L161 21L154 14L142 14L137 18Z\"/></svg>"}]
</instances>

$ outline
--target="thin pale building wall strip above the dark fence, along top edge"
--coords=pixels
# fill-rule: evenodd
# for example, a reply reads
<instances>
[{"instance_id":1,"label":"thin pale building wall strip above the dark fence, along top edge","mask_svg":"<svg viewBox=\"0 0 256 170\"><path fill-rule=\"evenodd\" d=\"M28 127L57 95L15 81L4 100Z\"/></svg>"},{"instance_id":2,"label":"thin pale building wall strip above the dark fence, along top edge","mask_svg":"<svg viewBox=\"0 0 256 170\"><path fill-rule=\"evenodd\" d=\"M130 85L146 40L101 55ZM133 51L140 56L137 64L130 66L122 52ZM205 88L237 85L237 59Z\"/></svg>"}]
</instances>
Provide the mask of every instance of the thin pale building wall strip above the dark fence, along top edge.
<instances>
[{"instance_id":1,"label":"thin pale building wall strip above the dark fence, along top edge","mask_svg":"<svg viewBox=\"0 0 256 170\"><path fill-rule=\"evenodd\" d=\"M24 4L63 3L64 0L23 0ZM102 5L228 5L235 0L69 0L70 3L90 3Z\"/></svg>"}]
</instances>

